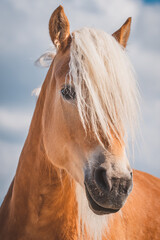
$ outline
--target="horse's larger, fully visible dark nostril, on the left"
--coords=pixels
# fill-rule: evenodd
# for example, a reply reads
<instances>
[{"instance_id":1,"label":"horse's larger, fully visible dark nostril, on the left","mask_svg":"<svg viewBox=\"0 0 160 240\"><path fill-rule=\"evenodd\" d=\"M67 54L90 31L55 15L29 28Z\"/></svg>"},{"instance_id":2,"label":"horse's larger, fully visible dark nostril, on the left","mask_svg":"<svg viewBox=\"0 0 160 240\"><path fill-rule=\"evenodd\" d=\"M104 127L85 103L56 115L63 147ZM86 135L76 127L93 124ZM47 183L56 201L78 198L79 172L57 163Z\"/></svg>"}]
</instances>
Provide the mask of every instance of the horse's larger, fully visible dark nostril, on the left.
<instances>
[{"instance_id":1,"label":"horse's larger, fully visible dark nostril, on the left","mask_svg":"<svg viewBox=\"0 0 160 240\"><path fill-rule=\"evenodd\" d=\"M109 179L107 178L106 170L104 168L102 167L97 168L94 173L94 178L98 188L105 191L110 191L111 184Z\"/></svg>"}]
</instances>

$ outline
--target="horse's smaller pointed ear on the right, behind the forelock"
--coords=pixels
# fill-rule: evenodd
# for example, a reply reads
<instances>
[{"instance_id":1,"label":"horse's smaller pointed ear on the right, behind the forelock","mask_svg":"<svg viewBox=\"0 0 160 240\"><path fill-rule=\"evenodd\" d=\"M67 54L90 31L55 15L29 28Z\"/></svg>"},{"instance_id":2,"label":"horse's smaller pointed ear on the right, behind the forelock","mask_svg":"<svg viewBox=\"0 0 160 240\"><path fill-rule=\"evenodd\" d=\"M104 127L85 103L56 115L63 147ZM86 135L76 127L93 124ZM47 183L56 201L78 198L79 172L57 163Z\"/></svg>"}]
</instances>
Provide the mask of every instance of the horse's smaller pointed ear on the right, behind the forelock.
<instances>
[{"instance_id":1,"label":"horse's smaller pointed ear on the right, behind the forelock","mask_svg":"<svg viewBox=\"0 0 160 240\"><path fill-rule=\"evenodd\" d=\"M131 20L132 18L129 17L126 22L122 25L120 29L112 34L112 36L123 46L126 47L127 41L130 34L131 28Z\"/></svg>"}]
</instances>

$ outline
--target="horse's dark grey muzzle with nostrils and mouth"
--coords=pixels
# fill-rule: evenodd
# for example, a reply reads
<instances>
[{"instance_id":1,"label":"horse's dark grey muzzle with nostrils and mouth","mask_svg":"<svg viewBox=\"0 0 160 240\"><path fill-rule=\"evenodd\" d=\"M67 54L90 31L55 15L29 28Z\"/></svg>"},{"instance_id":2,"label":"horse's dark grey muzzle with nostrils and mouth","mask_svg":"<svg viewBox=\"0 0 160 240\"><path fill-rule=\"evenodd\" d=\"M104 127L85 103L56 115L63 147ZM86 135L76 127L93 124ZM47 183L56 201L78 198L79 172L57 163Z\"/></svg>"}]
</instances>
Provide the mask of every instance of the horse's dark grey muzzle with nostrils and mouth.
<instances>
[{"instance_id":1,"label":"horse's dark grey muzzle with nostrils and mouth","mask_svg":"<svg viewBox=\"0 0 160 240\"><path fill-rule=\"evenodd\" d=\"M86 168L84 184L89 206L94 213L115 213L124 205L132 190L132 173L130 177L109 178L103 167Z\"/></svg>"}]
</instances>

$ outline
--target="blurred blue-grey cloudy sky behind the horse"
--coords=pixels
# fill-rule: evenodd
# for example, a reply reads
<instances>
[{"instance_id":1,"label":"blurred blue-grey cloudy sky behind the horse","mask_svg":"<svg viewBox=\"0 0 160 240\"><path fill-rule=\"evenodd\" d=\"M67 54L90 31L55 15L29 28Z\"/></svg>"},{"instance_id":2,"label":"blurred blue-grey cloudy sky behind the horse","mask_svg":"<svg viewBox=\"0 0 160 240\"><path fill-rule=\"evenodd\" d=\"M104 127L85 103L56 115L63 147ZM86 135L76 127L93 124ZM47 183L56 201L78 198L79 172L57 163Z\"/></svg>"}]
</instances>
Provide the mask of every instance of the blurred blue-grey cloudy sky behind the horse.
<instances>
[{"instance_id":1,"label":"blurred blue-grey cloudy sky behind the horse","mask_svg":"<svg viewBox=\"0 0 160 240\"><path fill-rule=\"evenodd\" d=\"M47 69L34 61L50 46L48 21L64 6L71 31L83 26L117 30L132 17L127 52L137 73L142 102L142 138L134 168L160 177L160 1L0 1L0 203L15 174L36 99Z\"/></svg>"}]
</instances>

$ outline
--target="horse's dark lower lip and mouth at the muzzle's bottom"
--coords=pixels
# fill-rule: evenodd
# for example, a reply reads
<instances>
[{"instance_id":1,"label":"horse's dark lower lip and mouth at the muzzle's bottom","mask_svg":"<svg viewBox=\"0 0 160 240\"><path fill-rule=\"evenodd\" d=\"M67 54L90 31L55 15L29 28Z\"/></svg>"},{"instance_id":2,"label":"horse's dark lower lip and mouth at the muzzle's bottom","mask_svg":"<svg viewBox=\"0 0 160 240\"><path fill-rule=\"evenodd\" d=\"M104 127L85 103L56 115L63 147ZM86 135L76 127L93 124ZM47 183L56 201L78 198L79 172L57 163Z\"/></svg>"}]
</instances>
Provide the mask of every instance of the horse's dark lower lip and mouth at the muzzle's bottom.
<instances>
[{"instance_id":1,"label":"horse's dark lower lip and mouth at the muzzle's bottom","mask_svg":"<svg viewBox=\"0 0 160 240\"><path fill-rule=\"evenodd\" d=\"M104 215L104 214L110 214L110 213L116 213L118 212L120 209L112 209L112 208L104 208L102 206L100 206L97 202L95 202L95 200L91 197L87 186L85 184L85 190L86 190L86 196L89 202L89 207L90 209L97 215Z\"/></svg>"}]
</instances>

